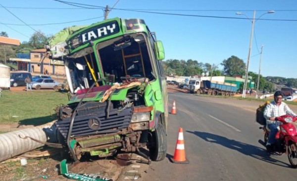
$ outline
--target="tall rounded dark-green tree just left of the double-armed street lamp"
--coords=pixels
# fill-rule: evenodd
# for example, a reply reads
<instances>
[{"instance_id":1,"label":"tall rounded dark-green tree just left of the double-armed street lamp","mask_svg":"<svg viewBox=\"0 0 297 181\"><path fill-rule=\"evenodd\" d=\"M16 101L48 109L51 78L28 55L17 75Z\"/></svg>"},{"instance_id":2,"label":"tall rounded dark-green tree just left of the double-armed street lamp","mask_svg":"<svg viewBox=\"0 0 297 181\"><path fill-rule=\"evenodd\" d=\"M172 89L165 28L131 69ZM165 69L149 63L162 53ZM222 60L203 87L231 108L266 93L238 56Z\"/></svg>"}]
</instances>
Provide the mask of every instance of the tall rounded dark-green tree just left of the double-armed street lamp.
<instances>
[{"instance_id":1,"label":"tall rounded dark-green tree just left of the double-armed street lamp","mask_svg":"<svg viewBox=\"0 0 297 181\"><path fill-rule=\"evenodd\" d=\"M227 60L223 60L221 65L224 66L223 72L226 75L242 75L246 72L246 64L244 61L234 55Z\"/></svg>"}]
</instances>

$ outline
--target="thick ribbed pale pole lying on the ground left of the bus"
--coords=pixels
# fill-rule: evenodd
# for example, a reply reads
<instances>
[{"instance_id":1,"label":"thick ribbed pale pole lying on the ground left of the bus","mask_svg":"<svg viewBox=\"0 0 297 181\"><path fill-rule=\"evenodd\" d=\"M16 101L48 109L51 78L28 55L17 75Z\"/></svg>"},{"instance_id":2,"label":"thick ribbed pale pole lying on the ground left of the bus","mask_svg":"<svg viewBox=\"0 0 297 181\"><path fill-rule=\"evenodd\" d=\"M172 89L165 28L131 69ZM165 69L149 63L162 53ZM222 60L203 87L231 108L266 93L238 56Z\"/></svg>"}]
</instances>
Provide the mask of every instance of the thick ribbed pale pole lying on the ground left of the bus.
<instances>
[{"instance_id":1,"label":"thick ribbed pale pole lying on the ground left of the bus","mask_svg":"<svg viewBox=\"0 0 297 181\"><path fill-rule=\"evenodd\" d=\"M0 162L44 146L44 144L29 138L23 139L26 136L42 142L56 143L56 131L53 123L54 121L39 127L0 134Z\"/></svg>"}]
</instances>

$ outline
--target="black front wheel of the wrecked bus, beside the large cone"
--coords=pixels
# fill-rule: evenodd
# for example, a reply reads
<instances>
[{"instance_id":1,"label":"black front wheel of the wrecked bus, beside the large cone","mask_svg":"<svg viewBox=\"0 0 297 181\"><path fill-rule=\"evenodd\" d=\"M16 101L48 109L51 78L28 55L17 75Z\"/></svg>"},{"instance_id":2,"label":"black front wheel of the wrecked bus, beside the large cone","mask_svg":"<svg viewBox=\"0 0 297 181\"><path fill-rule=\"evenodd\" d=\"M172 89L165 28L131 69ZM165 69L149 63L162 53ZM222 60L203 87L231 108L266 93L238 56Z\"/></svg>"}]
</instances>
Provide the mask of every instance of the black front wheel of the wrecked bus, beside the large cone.
<instances>
[{"instance_id":1,"label":"black front wheel of the wrecked bus, beside the large cone","mask_svg":"<svg viewBox=\"0 0 297 181\"><path fill-rule=\"evenodd\" d=\"M148 148L152 161L161 161L167 153L167 138L162 124L158 124L155 131L151 132L148 142L152 145Z\"/></svg>"}]
</instances>

